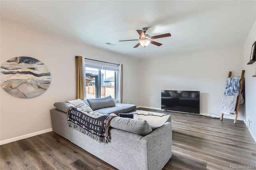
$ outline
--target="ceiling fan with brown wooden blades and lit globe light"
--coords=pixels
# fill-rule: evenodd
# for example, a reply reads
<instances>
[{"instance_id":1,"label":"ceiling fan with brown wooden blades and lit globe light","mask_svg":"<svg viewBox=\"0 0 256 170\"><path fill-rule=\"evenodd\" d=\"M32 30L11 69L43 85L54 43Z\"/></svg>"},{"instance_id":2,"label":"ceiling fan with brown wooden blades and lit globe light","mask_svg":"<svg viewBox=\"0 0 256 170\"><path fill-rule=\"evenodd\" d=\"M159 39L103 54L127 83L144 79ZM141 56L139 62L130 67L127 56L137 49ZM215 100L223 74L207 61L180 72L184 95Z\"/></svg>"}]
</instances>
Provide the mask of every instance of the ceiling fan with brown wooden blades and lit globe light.
<instances>
[{"instance_id":1,"label":"ceiling fan with brown wooden blades and lit globe light","mask_svg":"<svg viewBox=\"0 0 256 170\"><path fill-rule=\"evenodd\" d=\"M161 46L162 45L161 43L155 42L153 40L156 39L156 38L164 38L164 37L171 36L170 33L166 33L166 34L161 34L161 35L158 35L158 36L152 36L151 37L150 35L145 34L147 30L148 30L147 27L143 27L141 30L136 30L138 32L138 34L140 35L139 39L136 39L136 40L120 40L120 42L140 40L140 42L138 44L136 44L136 46L134 46L133 48L137 48L140 45L144 46L144 48L145 48L146 46L148 46L149 43L154 44L156 46Z\"/></svg>"}]
</instances>

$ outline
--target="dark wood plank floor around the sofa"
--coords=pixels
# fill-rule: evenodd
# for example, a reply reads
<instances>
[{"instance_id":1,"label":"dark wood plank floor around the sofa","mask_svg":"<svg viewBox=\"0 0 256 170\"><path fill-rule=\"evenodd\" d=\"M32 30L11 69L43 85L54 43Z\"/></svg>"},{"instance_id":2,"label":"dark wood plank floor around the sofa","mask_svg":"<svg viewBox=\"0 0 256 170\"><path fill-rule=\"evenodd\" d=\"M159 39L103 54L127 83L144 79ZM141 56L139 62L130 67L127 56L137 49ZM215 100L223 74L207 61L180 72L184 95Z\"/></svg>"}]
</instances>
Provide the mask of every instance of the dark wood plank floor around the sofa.
<instances>
[{"instance_id":1,"label":"dark wood plank floor around the sofa","mask_svg":"<svg viewBox=\"0 0 256 170\"><path fill-rule=\"evenodd\" d=\"M256 169L256 143L244 122L170 114L172 158L163 170ZM0 155L1 170L116 170L54 132L4 144Z\"/></svg>"}]
</instances>

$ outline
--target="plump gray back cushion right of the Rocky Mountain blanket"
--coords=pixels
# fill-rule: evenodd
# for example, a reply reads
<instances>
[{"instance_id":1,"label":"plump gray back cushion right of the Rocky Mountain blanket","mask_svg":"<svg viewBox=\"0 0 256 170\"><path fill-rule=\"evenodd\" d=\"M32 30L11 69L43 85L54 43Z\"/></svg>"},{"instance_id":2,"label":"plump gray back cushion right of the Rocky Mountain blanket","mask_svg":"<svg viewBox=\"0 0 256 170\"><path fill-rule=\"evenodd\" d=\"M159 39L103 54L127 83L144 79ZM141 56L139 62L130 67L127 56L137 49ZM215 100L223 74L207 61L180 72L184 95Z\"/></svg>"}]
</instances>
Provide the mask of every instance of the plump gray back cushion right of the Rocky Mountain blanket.
<instances>
[{"instance_id":1,"label":"plump gray back cushion right of the Rocky Mountain blanket","mask_svg":"<svg viewBox=\"0 0 256 170\"><path fill-rule=\"evenodd\" d=\"M152 128L149 126L148 122L142 119L114 117L110 120L110 126L142 136L146 136L152 132Z\"/></svg>"}]
</instances>

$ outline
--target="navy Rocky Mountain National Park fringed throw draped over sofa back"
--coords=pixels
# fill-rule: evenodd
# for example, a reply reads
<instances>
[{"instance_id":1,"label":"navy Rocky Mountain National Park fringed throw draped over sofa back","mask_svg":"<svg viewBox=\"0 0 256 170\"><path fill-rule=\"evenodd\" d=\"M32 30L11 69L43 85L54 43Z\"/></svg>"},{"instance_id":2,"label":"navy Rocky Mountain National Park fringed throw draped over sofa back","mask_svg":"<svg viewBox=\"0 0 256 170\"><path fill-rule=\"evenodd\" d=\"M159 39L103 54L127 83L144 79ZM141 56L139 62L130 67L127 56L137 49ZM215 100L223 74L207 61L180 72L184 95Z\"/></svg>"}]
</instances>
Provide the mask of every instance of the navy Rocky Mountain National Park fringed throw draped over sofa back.
<instances>
[{"instance_id":1,"label":"navy Rocky Mountain National Park fringed throw draped over sofa back","mask_svg":"<svg viewBox=\"0 0 256 170\"><path fill-rule=\"evenodd\" d=\"M108 130L113 117L108 114L71 107L68 111L67 124L98 142L110 142Z\"/></svg>"}]
</instances>

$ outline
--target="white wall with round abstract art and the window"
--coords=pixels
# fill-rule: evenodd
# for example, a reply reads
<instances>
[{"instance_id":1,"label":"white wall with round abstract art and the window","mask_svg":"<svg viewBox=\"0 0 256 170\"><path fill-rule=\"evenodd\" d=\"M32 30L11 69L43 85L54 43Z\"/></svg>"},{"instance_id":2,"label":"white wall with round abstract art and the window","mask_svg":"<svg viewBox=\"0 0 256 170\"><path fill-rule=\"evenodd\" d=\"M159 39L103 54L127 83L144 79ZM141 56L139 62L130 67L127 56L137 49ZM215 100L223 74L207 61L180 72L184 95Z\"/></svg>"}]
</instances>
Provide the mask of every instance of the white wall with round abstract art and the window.
<instances>
[{"instance_id":1,"label":"white wall with round abstract art and the window","mask_svg":"<svg viewBox=\"0 0 256 170\"><path fill-rule=\"evenodd\" d=\"M75 56L123 65L123 102L139 104L138 60L86 44L56 37L1 20L0 65L10 58L29 56L50 69L52 81L42 95L17 98L0 88L0 144L51 131L54 102L76 99ZM134 83L136 82L136 84Z\"/></svg>"}]
</instances>

